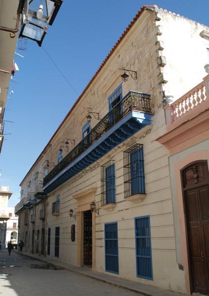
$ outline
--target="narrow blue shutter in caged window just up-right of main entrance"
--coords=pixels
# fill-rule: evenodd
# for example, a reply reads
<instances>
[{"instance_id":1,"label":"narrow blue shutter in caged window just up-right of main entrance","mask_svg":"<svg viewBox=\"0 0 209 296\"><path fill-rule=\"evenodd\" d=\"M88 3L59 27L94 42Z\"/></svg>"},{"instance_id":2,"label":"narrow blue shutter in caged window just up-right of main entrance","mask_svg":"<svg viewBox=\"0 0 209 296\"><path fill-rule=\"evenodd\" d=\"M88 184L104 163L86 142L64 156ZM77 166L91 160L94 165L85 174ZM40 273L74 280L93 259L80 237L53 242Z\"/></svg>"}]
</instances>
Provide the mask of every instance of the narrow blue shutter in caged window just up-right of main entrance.
<instances>
[{"instance_id":1,"label":"narrow blue shutter in caged window just up-right of main entrance","mask_svg":"<svg viewBox=\"0 0 209 296\"><path fill-rule=\"evenodd\" d=\"M115 202L115 164L106 168L106 203Z\"/></svg>"}]
</instances>

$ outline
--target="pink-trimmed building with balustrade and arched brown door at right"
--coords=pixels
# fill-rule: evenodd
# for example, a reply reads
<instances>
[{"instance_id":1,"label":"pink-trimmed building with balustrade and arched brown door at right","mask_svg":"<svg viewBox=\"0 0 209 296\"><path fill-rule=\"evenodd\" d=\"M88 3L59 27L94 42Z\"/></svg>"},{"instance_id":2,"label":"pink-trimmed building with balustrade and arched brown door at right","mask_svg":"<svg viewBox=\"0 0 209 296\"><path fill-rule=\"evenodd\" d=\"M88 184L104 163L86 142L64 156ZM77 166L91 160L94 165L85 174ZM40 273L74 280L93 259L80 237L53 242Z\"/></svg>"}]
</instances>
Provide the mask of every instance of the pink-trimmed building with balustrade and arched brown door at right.
<instances>
[{"instance_id":1,"label":"pink-trimmed building with balustrade and arched brown door at right","mask_svg":"<svg viewBox=\"0 0 209 296\"><path fill-rule=\"evenodd\" d=\"M209 295L209 74L165 112L177 261L188 290Z\"/></svg>"}]
</instances>

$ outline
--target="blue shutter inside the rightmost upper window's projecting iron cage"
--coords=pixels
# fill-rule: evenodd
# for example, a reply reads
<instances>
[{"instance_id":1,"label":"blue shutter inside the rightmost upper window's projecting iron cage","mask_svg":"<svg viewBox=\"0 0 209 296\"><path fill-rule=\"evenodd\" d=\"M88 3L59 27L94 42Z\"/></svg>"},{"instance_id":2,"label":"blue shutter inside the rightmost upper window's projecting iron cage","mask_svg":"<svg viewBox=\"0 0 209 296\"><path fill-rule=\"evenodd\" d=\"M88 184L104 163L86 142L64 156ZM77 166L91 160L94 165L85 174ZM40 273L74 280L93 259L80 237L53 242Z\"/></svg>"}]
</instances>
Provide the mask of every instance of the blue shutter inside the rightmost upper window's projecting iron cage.
<instances>
[{"instance_id":1,"label":"blue shutter inside the rightmost upper window's projecting iron cage","mask_svg":"<svg viewBox=\"0 0 209 296\"><path fill-rule=\"evenodd\" d=\"M131 195L145 193L142 147L130 154L130 192Z\"/></svg>"}]
</instances>

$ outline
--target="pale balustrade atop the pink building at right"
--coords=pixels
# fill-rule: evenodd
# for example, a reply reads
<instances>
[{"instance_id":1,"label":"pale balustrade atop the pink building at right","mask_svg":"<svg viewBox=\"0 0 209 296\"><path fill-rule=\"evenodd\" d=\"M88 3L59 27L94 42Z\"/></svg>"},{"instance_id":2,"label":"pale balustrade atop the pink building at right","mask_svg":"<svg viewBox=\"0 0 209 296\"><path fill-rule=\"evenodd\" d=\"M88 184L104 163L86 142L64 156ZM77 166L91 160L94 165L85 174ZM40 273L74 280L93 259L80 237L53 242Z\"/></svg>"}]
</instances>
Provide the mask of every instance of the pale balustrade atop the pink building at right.
<instances>
[{"instance_id":1,"label":"pale balustrade atop the pink building at right","mask_svg":"<svg viewBox=\"0 0 209 296\"><path fill-rule=\"evenodd\" d=\"M181 98L165 107L167 126L170 129L195 117L209 108L209 75Z\"/></svg>"}]
</instances>

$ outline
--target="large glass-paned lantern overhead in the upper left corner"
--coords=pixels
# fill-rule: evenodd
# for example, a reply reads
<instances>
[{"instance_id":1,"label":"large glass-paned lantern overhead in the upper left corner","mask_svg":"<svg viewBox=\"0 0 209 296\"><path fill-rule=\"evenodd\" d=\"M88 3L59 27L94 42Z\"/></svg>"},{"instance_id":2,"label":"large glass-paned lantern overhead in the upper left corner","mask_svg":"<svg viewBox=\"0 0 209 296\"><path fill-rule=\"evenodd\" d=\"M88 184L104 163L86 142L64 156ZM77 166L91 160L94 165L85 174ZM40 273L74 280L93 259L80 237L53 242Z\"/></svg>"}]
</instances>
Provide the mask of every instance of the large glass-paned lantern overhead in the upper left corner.
<instances>
[{"instance_id":1,"label":"large glass-paned lantern overhead in the upper left corner","mask_svg":"<svg viewBox=\"0 0 209 296\"><path fill-rule=\"evenodd\" d=\"M48 25L52 25L63 0L25 0L19 38L26 37L42 46Z\"/></svg>"}]
</instances>

